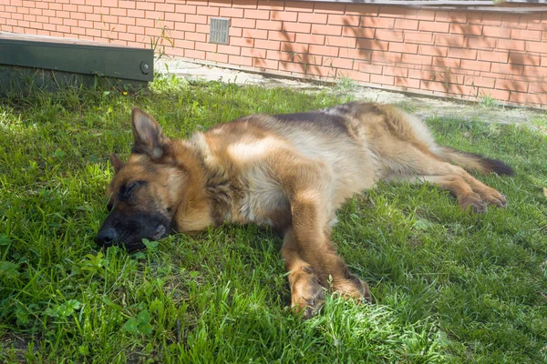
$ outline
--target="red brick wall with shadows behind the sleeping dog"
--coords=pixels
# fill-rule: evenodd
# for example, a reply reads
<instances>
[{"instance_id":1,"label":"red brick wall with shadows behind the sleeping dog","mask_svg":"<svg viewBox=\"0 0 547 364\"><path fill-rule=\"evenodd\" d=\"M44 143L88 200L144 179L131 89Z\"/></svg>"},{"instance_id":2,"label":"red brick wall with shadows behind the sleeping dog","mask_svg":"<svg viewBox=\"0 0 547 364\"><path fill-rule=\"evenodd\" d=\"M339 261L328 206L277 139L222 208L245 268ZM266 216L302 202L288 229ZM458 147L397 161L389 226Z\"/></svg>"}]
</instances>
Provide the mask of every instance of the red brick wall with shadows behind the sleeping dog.
<instances>
[{"instance_id":1,"label":"red brick wall with shadows behind the sleeping dog","mask_svg":"<svg viewBox=\"0 0 547 364\"><path fill-rule=\"evenodd\" d=\"M0 0L7 32L150 47L220 65L501 102L547 105L547 13L268 0ZM231 19L230 44L208 42Z\"/></svg>"}]
</instances>

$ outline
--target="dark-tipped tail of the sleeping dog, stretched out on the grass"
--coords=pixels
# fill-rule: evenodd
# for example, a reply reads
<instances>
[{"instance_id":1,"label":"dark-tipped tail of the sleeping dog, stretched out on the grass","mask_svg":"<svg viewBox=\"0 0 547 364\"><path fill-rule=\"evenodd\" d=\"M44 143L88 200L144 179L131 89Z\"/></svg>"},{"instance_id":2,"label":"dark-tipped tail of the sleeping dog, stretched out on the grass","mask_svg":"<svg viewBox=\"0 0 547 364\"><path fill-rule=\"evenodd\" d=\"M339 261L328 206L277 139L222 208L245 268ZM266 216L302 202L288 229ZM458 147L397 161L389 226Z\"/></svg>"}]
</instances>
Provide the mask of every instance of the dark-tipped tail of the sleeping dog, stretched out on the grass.
<instances>
[{"instance_id":1,"label":"dark-tipped tail of the sleeping dog, stretched out on the grass","mask_svg":"<svg viewBox=\"0 0 547 364\"><path fill-rule=\"evenodd\" d=\"M468 170L477 170L483 175L487 175L492 172L498 175L508 176L512 176L514 174L512 168L500 160L485 158L478 154L464 152L451 147L439 146L439 152L437 155L447 162Z\"/></svg>"}]
</instances>

